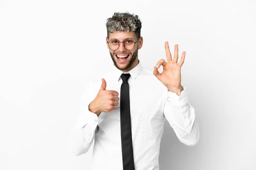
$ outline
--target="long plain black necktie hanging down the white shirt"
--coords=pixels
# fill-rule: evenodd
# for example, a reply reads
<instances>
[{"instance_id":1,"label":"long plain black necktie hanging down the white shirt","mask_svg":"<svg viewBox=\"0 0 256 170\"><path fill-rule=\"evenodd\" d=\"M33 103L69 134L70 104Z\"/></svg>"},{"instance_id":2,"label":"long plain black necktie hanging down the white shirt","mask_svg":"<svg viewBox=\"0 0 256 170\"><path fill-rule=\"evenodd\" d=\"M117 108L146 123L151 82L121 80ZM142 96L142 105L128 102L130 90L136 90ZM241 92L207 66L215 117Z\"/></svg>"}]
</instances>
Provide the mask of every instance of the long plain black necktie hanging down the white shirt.
<instances>
[{"instance_id":1,"label":"long plain black necktie hanging down the white shirt","mask_svg":"<svg viewBox=\"0 0 256 170\"><path fill-rule=\"evenodd\" d=\"M131 115L128 78L130 74L122 74L120 91L120 125L122 140L123 170L135 170L131 139Z\"/></svg>"}]
</instances>

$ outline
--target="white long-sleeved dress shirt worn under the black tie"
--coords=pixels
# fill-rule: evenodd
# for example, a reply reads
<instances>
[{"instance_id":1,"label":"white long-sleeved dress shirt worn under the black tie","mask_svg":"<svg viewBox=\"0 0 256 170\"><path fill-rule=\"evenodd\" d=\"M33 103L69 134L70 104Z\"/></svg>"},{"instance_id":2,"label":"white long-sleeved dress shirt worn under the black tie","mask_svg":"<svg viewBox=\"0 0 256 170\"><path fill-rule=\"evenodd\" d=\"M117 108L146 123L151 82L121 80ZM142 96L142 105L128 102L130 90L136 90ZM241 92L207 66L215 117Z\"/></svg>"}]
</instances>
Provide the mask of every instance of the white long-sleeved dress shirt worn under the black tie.
<instances>
[{"instance_id":1,"label":"white long-sleeved dress shirt worn under the black tie","mask_svg":"<svg viewBox=\"0 0 256 170\"><path fill-rule=\"evenodd\" d=\"M113 70L102 77L90 80L81 97L81 113L70 134L72 151L79 156L86 153L94 139L91 170L122 170L120 130L120 101L116 110L102 112L98 117L88 109L102 85L106 90L119 93L123 72L113 65ZM131 133L135 170L159 170L160 140L165 119L183 144L192 146L199 139L195 109L189 104L185 86L180 96L168 91L153 71L139 64L128 72L131 110Z\"/></svg>"}]
</instances>

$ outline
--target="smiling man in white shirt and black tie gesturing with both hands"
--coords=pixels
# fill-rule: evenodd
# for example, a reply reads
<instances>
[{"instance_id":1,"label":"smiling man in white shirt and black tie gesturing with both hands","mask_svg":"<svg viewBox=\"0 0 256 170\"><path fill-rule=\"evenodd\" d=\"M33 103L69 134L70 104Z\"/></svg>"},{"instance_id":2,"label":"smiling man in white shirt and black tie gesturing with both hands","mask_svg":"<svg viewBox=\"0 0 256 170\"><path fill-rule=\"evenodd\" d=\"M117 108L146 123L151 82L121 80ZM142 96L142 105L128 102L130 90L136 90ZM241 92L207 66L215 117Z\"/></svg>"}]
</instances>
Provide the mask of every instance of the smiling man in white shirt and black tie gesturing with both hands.
<instances>
[{"instance_id":1,"label":"smiling man in white shirt and black tie gesturing with both hands","mask_svg":"<svg viewBox=\"0 0 256 170\"><path fill-rule=\"evenodd\" d=\"M85 88L82 112L70 135L73 153L86 153L94 139L92 170L159 170L165 119L183 144L192 146L199 139L195 110L180 84L185 51L177 62L178 45L172 59L165 42L167 61L161 59L148 71L138 59L143 45L139 17L114 13L106 26L113 70Z\"/></svg>"}]
</instances>

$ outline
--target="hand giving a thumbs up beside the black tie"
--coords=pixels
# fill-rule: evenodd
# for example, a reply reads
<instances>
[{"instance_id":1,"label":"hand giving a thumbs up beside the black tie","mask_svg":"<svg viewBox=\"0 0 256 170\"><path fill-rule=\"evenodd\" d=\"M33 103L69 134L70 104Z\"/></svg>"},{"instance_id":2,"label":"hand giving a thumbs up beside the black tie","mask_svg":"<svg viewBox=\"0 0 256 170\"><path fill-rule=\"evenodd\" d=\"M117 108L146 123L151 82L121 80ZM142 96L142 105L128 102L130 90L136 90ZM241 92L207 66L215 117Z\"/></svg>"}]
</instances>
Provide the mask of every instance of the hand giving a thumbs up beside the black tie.
<instances>
[{"instance_id":1,"label":"hand giving a thumbs up beside the black tie","mask_svg":"<svg viewBox=\"0 0 256 170\"><path fill-rule=\"evenodd\" d=\"M102 78L102 85L95 99L89 105L89 111L98 117L101 112L110 112L117 109L119 104L119 93L117 91L106 90L107 82Z\"/></svg>"}]
</instances>

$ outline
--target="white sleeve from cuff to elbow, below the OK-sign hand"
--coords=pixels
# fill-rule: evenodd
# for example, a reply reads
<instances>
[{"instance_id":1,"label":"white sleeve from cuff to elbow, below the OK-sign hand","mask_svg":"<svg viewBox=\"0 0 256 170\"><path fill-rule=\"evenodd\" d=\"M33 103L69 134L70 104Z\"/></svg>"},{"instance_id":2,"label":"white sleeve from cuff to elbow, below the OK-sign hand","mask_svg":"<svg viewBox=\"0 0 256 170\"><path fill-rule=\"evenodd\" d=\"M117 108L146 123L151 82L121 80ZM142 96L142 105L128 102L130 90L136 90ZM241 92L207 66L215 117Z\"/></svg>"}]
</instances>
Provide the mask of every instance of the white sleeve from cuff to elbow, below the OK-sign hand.
<instances>
[{"instance_id":1,"label":"white sleeve from cuff to elbow, below the OK-sign hand","mask_svg":"<svg viewBox=\"0 0 256 170\"><path fill-rule=\"evenodd\" d=\"M164 115L180 142L195 145L199 139L199 127L195 120L195 109L189 104L186 87L182 86L180 96L167 91Z\"/></svg>"}]
</instances>

